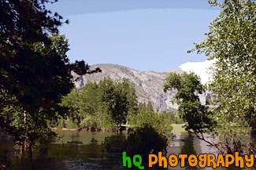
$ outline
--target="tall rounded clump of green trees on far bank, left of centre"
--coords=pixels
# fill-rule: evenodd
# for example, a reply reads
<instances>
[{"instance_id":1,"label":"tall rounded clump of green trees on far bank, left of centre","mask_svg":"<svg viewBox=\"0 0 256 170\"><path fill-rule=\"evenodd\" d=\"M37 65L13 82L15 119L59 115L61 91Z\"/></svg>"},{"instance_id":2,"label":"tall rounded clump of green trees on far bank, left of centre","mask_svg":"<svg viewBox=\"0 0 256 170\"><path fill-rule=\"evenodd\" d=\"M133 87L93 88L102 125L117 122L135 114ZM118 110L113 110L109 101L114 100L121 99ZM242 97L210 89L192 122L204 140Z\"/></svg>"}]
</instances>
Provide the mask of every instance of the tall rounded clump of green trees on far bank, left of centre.
<instances>
[{"instance_id":1,"label":"tall rounded clump of green trees on far bank, left of centre","mask_svg":"<svg viewBox=\"0 0 256 170\"><path fill-rule=\"evenodd\" d=\"M63 97L61 105L69 107L69 118L78 127L113 129L128 121L137 110L135 85L127 79L87 81L79 91L73 89Z\"/></svg>"}]
</instances>

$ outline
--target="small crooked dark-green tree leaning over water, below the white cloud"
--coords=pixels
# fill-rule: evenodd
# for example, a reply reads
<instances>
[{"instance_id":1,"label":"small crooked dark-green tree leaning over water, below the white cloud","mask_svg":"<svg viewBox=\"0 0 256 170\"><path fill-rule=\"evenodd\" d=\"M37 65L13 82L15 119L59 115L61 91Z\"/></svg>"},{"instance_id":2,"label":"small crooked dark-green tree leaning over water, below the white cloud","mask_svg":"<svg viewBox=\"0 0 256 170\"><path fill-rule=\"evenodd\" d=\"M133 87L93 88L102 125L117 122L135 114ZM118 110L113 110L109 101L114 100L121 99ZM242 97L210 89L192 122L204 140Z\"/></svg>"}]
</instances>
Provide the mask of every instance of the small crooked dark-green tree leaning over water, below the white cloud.
<instances>
[{"instance_id":1,"label":"small crooked dark-green tree leaning over water, below the white cloud","mask_svg":"<svg viewBox=\"0 0 256 170\"><path fill-rule=\"evenodd\" d=\"M186 72L183 74L170 73L169 77L165 78L163 87L164 92L171 89L178 90L174 97L176 103L179 104L180 118L187 122L185 129L203 139L203 133L210 132L214 127L214 122L208 107L201 104L197 95L197 93L204 92L198 76Z\"/></svg>"}]
</instances>

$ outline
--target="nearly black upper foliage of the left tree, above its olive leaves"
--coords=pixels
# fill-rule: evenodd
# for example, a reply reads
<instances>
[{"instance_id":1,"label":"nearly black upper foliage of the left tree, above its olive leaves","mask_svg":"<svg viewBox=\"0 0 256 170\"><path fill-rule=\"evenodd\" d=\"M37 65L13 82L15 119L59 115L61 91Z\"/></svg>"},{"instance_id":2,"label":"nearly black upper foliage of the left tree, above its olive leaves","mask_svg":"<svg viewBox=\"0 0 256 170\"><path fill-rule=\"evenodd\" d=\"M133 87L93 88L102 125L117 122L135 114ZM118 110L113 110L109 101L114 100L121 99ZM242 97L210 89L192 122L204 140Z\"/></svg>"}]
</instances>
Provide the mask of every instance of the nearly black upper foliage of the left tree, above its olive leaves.
<instances>
[{"instance_id":1,"label":"nearly black upper foliage of the left tree, above its olive leaves","mask_svg":"<svg viewBox=\"0 0 256 170\"><path fill-rule=\"evenodd\" d=\"M64 42L63 52L49 50L54 43L46 34L58 32L61 16L50 16L45 2L1 1L1 90L30 112L48 107L72 87L69 60L63 55L68 44Z\"/></svg>"}]
</instances>

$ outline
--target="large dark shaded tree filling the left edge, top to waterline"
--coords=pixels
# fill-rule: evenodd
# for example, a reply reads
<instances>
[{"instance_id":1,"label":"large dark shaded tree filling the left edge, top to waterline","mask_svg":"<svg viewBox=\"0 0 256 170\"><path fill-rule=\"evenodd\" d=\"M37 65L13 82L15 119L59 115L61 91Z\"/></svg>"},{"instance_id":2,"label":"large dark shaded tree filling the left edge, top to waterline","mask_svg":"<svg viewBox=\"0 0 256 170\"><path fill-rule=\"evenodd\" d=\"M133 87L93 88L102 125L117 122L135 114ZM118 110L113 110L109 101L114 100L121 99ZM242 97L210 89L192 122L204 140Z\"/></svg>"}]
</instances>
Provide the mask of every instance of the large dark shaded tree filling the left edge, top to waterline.
<instances>
[{"instance_id":1,"label":"large dark shaded tree filling the left edge, top to waterline","mask_svg":"<svg viewBox=\"0 0 256 170\"><path fill-rule=\"evenodd\" d=\"M87 69L83 61L69 63L68 41L58 36L67 21L51 15L47 2L0 0L0 126L30 150L55 135L47 120L66 113L58 103L73 87L71 71Z\"/></svg>"}]
</instances>

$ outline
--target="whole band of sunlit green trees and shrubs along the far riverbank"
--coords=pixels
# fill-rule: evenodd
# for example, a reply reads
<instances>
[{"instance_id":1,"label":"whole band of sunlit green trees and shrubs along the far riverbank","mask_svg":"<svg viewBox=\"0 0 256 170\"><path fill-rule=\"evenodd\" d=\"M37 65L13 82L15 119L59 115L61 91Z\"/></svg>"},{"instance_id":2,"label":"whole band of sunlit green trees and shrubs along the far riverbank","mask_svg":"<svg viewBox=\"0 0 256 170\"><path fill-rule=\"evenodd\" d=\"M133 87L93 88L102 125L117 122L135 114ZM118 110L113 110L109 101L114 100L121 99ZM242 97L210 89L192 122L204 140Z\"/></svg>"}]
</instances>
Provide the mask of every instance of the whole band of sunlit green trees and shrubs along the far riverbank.
<instances>
[{"instance_id":1,"label":"whole band of sunlit green trees and shrubs along the far riverbank","mask_svg":"<svg viewBox=\"0 0 256 170\"><path fill-rule=\"evenodd\" d=\"M154 112L150 102L138 103L135 85L125 78L87 81L82 89L72 89L64 96L60 105L69 108L69 114L52 121L53 127L109 131L119 130L121 125L136 128L150 124L170 132L176 121L171 112Z\"/></svg>"}]
</instances>

